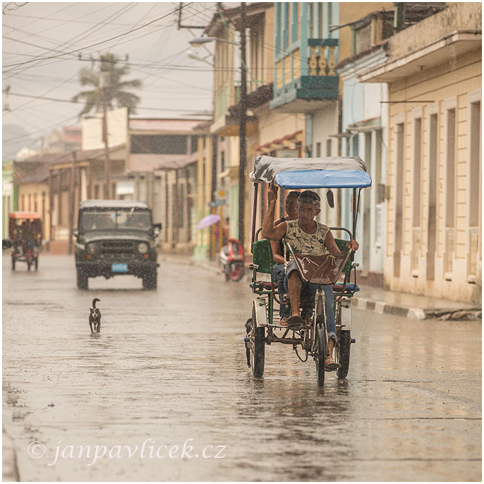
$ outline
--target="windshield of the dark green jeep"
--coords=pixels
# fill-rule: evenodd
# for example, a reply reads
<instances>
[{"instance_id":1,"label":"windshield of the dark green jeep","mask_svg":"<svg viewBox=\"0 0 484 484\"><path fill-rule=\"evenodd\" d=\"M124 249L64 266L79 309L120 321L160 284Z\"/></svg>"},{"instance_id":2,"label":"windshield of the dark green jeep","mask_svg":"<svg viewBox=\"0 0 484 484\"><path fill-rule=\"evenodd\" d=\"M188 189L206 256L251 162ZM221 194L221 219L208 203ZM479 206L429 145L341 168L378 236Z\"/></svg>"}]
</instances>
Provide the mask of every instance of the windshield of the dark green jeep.
<instances>
[{"instance_id":1,"label":"windshield of the dark green jeep","mask_svg":"<svg viewBox=\"0 0 484 484\"><path fill-rule=\"evenodd\" d=\"M82 210L79 230L151 230L152 213L139 208L96 208Z\"/></svg>"}]
</instances>

